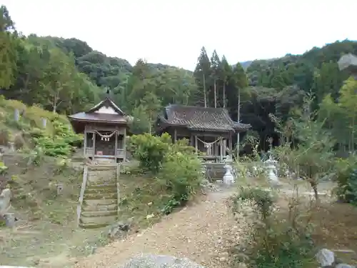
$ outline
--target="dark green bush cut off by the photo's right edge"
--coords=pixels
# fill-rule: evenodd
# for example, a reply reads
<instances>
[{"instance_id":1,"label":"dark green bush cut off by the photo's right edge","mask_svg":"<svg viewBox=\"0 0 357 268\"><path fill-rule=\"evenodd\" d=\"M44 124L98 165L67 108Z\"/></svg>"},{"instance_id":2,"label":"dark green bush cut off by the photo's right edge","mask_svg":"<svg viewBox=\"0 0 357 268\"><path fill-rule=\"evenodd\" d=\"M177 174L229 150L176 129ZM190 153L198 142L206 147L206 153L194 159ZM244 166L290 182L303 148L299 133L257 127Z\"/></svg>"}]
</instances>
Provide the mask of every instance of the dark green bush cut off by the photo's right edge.
<instances>
[{"instance_id":1,"label":"dark green bush cut off by the photo's right edge","mask_svg":"<svg viewBox=\"0 0 357 268\"><path fill-rule=\"evenodd\" d=\"M338 200L357 204L357 157L351 155L347 159L338 159L336 162L337 182L335 189Z\"/></svg>"}]
</instances>

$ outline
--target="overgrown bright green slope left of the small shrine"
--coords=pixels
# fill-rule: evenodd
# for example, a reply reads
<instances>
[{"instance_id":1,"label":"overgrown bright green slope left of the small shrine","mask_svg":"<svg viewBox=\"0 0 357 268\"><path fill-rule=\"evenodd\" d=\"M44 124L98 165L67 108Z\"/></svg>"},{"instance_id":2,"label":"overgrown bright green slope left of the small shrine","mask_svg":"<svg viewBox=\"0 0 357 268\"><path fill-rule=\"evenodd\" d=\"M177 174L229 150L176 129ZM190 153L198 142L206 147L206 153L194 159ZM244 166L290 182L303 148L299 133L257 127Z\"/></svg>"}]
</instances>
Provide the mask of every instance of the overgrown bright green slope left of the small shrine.
<instances>
[{"instance_id":1,"label":"overgrown bright green slope left of the small shrine","mask_svg":"<svg viewBox=\"0 0 357 268\"><path fill-rule=\"evenodd\" d=\"M18 120L16 110L20 114ZM14 142L15 149L23 152L36 150L48 156L67 157L81 139L66 116L0 96L0 146L9 147Z\"/></svg>"}]
</instances>

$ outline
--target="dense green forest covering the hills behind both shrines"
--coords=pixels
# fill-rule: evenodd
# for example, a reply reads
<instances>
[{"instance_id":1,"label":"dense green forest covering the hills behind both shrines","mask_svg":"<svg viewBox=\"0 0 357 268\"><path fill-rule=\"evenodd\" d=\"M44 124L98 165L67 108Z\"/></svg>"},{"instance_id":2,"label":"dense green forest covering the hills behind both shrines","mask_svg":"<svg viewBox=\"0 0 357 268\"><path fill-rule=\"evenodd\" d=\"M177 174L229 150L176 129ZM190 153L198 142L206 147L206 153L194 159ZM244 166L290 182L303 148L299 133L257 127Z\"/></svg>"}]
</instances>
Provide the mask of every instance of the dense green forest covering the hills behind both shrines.
<instances>
[{"instance_id":1,"label":"dense green forest covering the hills behind both shrines","mask_svg":"<svg viewBox=\"0 0 357 268\"><path fill-rule=\"evenodd\" d=\"M0 13L0 93L6 99L71 114L99 102L109 88L116 104L134 116L134 133L149 131L168 104L225 107L234 120L239 113L253 126L264 147L266 137L275 134L269 114L287 119L311 94L313 109L328 118L326 127L338 144L348 150L356 144L357 83L339 71L337 61L343 54L357 54L357 41L243 65L232 65L218 51L208 55L203 46L192 72L144 60L131 66L76 38L24 36L6 6Z\"/></svg>"}]
</instances>

